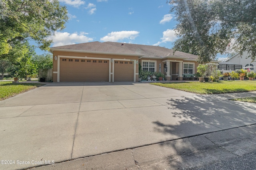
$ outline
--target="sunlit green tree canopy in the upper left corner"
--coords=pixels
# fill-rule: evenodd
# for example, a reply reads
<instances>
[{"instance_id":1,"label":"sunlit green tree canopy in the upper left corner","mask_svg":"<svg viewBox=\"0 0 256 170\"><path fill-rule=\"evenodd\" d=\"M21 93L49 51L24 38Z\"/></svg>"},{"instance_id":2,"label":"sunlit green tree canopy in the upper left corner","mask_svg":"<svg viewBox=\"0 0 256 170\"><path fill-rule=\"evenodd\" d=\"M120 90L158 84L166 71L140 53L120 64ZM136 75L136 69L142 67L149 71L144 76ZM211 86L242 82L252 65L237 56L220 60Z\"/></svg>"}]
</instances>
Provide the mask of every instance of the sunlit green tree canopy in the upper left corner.
<instances>
[{"instance_id":1,"label":"sunlit green tree canopy in the upper left corner","mask_svg":"<svg viewBox=\"0 0 256 170\"><path fill-rule=\"evenodd\" d=\"M1 0L0 57L8 54L13 41L33 39L40 49L48 50L50 35L64 29L67 9L58 0Z\"/></svg>"}]
</instances>

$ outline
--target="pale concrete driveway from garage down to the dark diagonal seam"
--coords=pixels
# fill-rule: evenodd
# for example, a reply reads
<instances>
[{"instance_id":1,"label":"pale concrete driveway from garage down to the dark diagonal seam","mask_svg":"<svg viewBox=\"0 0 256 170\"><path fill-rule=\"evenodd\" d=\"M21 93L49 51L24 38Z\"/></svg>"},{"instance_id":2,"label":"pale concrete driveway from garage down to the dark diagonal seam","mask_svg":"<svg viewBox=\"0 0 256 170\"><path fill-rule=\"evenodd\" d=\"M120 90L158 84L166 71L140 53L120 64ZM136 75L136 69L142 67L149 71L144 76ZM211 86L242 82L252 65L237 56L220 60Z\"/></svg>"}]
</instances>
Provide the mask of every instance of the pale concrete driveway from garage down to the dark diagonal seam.
<instances>
[{"instance_id":1,"label":"pale concrete driveway from garage down to the dark diagonal seam","mask_svg":"<svg viewBox=\"0 0 256 170\"><path fill-rule=\"evenodd\" d=\"M0 157L14 162L0 164L0 169L63 162L256 123L254 104L228 100L241 95L255 93L195 95L133 82L47 84L0 102Z\"/></svg>"}]
</instances>

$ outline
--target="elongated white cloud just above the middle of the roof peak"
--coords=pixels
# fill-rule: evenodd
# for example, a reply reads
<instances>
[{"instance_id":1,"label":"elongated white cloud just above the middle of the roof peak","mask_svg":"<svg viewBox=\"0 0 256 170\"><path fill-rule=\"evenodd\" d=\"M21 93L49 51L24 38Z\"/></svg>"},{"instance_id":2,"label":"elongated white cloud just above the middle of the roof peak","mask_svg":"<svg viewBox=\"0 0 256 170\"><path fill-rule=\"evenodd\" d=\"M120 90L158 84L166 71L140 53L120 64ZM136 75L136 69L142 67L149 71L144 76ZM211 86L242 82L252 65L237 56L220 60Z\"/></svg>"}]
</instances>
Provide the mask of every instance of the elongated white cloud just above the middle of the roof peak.
<instances>
[{"instance_id":1,"label":"elongated white cloud just above the middle of the roof peak","mask_svg":"<svg viewBox=\"0 0 256 170\"><path fill-rule=\"evenodd\" d=\"M135 39L140 32L138 31L116 31L108 33L105 37L100 38L100 41L119 41L123 39Z\"/></svg>"}]
</instances>

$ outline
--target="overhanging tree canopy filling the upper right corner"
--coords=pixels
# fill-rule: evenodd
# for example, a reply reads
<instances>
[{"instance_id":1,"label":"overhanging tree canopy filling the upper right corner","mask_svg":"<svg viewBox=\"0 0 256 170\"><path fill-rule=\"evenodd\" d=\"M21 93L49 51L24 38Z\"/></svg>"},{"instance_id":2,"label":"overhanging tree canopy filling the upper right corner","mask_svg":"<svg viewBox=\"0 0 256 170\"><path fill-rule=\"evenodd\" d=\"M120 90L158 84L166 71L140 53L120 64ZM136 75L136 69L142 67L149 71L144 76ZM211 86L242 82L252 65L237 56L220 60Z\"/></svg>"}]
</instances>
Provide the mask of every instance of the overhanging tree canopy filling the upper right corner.
<instances>
[{"instance_id":1,"label":"overhanging tree canopy filling the upper right corner","mask_svg":"<svg viewBox=\"0 0 256 170\"><path fill-rule=\"evenodd\" d=\"M227 48L256 57L256 1L170 0L176 14L174 51L198 55L199 63L215 59ZM230 45L232 43L232 45Z\"/></svg>"}]
</instances>

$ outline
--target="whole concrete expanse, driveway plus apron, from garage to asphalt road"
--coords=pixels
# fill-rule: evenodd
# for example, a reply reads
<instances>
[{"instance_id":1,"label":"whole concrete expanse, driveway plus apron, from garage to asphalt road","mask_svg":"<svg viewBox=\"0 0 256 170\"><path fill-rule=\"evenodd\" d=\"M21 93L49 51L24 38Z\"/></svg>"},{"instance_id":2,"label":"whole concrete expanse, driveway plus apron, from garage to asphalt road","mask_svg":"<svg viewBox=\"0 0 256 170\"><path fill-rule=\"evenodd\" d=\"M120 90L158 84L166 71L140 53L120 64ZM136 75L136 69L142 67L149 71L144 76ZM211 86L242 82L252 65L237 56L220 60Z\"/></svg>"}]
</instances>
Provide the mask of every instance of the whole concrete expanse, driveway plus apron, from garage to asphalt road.
<instances>
[{"instance_id":1,"label":"whole concrete expanse, driveway plus apron, from garage to asphalt road","mask_svg":"<svg viewBox=\"0 0 256 170\"><path fill-rule=\"evenodd\" d=\"M50 83L0 101L0 169L198 169L253 156L256 105L230 99L255 95Z\"/></svg>"}]
</instances>

